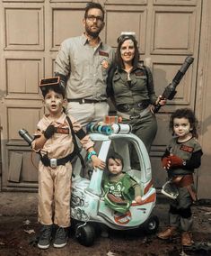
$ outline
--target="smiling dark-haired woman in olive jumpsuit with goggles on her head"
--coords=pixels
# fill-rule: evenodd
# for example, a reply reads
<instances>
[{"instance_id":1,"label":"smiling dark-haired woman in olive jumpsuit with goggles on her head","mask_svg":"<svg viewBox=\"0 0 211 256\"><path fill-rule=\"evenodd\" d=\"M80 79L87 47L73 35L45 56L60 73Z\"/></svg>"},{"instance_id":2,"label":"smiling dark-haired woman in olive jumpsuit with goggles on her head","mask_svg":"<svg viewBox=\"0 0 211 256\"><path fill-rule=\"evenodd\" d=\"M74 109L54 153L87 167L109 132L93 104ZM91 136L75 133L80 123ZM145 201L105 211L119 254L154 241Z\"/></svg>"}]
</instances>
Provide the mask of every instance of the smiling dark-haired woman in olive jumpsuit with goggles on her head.
<instances>
[{"instance_id":1,"label":"smiling dark-haired woman in olive jumpsuit with goggles on her head","mask_svg":"<svg viewBox=\"0 0 211 256\"><path fill-rule=\"evenodd\" d=\"M153 76L139 62L134 33L122 34L118 39L116 65L110 69L107 92L123 123L132 125L132 133L145 143L149 152L157 133L154 105L164 105L166 101L155 96Z\"/></svg>"}]
</instances>

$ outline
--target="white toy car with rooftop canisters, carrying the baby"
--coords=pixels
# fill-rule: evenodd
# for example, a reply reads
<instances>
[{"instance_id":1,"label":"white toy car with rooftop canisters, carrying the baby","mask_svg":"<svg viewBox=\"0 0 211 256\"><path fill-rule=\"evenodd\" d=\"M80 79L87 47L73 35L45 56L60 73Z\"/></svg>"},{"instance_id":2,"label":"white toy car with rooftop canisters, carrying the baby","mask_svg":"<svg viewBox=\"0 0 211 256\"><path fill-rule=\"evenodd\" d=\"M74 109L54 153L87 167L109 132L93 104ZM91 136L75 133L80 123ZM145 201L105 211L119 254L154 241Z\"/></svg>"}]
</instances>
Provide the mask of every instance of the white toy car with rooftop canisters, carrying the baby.
<instances>
[{"instance_id":1,"label":"white toy car with rooftop canisters, carrying the baby","mask_svg":"<svg viewBox=\"0 0 211 256\"><path fill-rule=\"evenodd\" d=\"M159 220L152 211L156 201L156 191L152 182L152 170L148 153L144 143L133 133L127 124L113 124L103 129L95 126L90 137L95 142L95 150L101 160L106 160L108 153L117 151L124 159L124 171L127 172L140 185L142 203L132 202L126 214L122 215L105 205L101 179L103 170L92 170L86 158L86 151L82 150L90 178L83 178L82 165L76 160L73 166L71 216L76 221L75 235L77 240L90 246L95 239L95 224L105 224L111 229L127 230L143 227L146 233L155 233ZM94 129L91 129L91 131ZM105 134L103 134L105 133ZM131 168L129 149L136 150L140 167Z\"/></svg>"}]
</instances>

